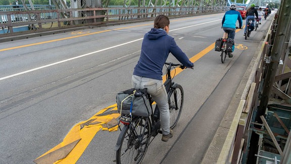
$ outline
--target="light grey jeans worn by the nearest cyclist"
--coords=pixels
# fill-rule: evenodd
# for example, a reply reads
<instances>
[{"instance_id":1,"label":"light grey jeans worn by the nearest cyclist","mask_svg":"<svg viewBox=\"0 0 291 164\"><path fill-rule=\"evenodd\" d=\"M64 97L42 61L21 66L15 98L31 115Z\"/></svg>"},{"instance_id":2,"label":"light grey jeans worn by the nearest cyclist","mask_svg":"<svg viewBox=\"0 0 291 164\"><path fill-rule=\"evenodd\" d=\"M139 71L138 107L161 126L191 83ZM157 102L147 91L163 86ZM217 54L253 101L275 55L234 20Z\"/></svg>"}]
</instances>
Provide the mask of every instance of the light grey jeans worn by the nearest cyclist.
<instances>
[{"instance_id":1,"label":"light grey jeans worn by the nearest cyclist","mask_svg":"<svg viewBox=\"0 0 291 164\"><path fill-rule=\"evenodd\" d=\"M170 111L168 95L163 80L132 75L132 87L136 90L148 89L148 93L152 95L153 100L160 109L162 132L164 135L168 135L170 133Z\"/></svg>"}]
</instances>

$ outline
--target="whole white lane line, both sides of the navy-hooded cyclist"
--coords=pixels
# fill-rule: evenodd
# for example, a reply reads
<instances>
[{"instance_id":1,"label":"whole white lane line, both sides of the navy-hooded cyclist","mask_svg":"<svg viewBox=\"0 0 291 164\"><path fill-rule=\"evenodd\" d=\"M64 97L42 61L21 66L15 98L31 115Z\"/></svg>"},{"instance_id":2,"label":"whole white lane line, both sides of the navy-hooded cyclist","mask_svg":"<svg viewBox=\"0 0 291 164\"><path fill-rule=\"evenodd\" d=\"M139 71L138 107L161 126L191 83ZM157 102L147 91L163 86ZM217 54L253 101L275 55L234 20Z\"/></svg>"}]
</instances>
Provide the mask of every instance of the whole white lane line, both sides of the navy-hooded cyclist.
<instances>
[{"instance_id":1,"label":"whole white lane line, both sides of the navy-hooded cyclist","mask_svg":"<svg viewBox=\"0 0 291 164\"><path fill-rule=\"evenodd\" d=\"M183 29L183 28L189 28L189 27L193 27L193 26L198 26L198 25L211 23L211 22L215 22L215 21L219 21L219 20L221 20L221 19L210 21L210 22L205 22L205 23L200 23L200 24L196 24L196 25L186 26L186 27L182 27L182 28L177 28L177 29L173 29L173 30L170 30L170 31L175 31L175 30L179 30L179 29ZM0 81L4 80L4 79L7 79L7 78L10 78L10 77L18 76L18 75L21 75L21 74L24 74L24 73L32 72L32 71L35 71L35 70L38 70L38 69L42 69L42 68L50 67L50 66L53 66L53 65L56 65L56 64L64 63L64 62L67 62L67 61L70 61L70 60L78 59L78 58L81 58L81 57L84 57L84 56L92 55L94 53L98 53L98 52L106 51L106 50L113 49L113 48L116 48L116 47L119 47L119 46L127 45L127 44L130 44L130 43L136 42L138 40L142 40L142 39L143 38L139 38L139 39L132 40L130 42L127 42L127 43L124 43L124 44L120 44L120 45L116 45L116 46L113 46L113 47L109 47L109 48L106 48L106 49L103 49L103 50L87 53L87 54L84 54L84 55L76 56L74 58L62 60L62 61L59 61L59 62L56 62L56 63L44 65L44 66L41 66L41 67L37 67L37 68L29 69L29 70L26 70L26 71L23 71L23 72L19 72L19 73L16 73L16 74L12 74L12 75L9 75L9 76L1 77Z\"/></svg>"}]
</instances>

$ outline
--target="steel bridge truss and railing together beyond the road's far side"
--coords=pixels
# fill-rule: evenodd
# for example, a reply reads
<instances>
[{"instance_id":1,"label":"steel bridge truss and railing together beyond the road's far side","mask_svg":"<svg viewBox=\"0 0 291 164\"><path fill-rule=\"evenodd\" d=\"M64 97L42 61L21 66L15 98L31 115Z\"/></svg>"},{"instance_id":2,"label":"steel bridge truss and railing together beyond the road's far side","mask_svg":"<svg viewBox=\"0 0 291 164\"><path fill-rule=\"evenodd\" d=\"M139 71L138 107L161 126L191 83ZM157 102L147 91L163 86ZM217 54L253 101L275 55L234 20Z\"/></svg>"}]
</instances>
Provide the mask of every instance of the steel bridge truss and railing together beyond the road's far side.
<instances>
[{"instance_id":1,"label":"steel bridge truss and railing together beyond the road's far side","mask_svg":"<svg viewBox=\"0 0 291 164\"><path fill-rule=\"evenodd\" d=\"M109 6L110 0L71 0L70 4L64 0L51 0L53 6L37 6L31 0L27 1L21 0L22 5L0 6L0 28L3 31L0 35L9 35L20 26L28 26L30 31L34 30L31 32L37 32L144 21L160 14L178 17L228 10L228 1L224 0L125 0L123 6Z\"/></svg>"}]
</instances>

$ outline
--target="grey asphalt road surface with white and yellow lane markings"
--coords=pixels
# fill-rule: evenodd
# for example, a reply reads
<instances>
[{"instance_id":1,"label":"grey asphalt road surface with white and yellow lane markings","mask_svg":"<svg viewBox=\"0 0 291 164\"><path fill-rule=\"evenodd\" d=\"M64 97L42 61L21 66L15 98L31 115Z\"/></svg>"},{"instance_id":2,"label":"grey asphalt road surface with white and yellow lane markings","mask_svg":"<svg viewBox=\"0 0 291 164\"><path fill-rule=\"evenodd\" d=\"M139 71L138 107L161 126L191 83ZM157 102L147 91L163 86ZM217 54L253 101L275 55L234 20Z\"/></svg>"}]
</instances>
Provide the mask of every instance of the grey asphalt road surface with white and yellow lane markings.
<instances>
[{"instance_id":1,"label":"grey asphalt road surface with white and yellow lane markings","mask_svg":"<svg viewBox=\"0 0 291 164\"><path fill-rule=\"evenodd\" d=\"M234 57L222 64L220 52L214 51L216 38L223 35L222 17L223 13L170 19L169 35L195 67L173 79L185 96L174 137L162 142L158 135L142 163L203 159L271 24L271 17L262 20L247 40L243 30L237 30ZM120 131L87 126L83 133L76 125L114 105L116 94L131 88L143 35L152 27L153 21L146 21L1 43L0 163L33 163L73 141L79 143L61 162L113 163ZM171 54L168 61L177 62Z\"/></svg>"}]
</instances>

